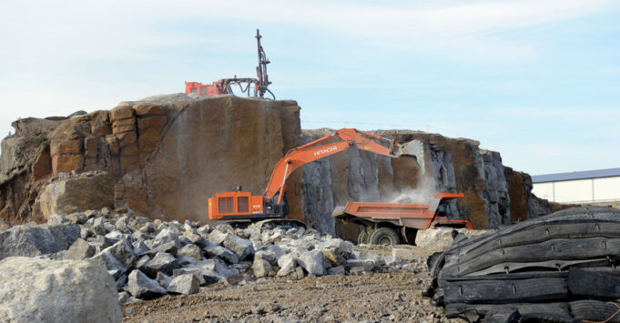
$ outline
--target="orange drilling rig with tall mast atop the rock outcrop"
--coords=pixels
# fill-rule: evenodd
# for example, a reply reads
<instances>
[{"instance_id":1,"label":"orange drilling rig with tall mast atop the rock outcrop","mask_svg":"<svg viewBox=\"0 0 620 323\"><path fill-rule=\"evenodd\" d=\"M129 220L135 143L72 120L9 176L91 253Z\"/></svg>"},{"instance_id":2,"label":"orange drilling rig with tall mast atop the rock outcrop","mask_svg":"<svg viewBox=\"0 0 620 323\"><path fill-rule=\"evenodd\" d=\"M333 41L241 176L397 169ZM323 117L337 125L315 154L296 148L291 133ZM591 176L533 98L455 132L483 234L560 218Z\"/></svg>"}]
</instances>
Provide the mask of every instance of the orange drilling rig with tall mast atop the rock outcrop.
<instances>
[{"instance_id":1,"label":"orange drilling rig with tall mast atop the rock outcrop","mask_svg":"<svg viewBox=\"0 0 620 323\"><path fill-rule=\"evenodd\" d=\"M241 93L247 93L250 96L250 93L253 92L253 96L259 96L260 98L265 98L265 93L269 93L271 96L270 99L275 100L276 96L269 91L267 88L271 82L269 82L269 76L267 75L267 65L269 59L267 59L267 55L260 45L260 35L259 29L256 30L256 41L259 48L259 66L256 67L256 76L253 77L243 77L239 78L237 76L232 78L222 78L217 82L212 82L209 84L202 84L200 82L185 82L185 93L186 94L196 94L200 96L217 96L223 94L234 94L232 92L233 86L239 86L239 91Z\"/></svg>"}]
</instances>

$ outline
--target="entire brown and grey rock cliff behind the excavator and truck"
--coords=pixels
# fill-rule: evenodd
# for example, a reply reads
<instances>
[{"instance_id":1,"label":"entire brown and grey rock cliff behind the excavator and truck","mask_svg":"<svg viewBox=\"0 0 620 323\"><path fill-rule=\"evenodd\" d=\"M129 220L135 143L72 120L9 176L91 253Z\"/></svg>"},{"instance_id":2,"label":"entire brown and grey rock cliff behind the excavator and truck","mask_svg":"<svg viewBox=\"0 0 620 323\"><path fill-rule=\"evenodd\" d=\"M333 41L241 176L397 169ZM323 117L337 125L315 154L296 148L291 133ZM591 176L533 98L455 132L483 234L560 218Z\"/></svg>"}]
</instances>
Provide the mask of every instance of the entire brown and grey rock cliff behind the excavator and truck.
<instances>
[{"instance_id":1,"label":"entire brown and grey rock cliff behind the excavator and truck","mask_svg":"<svg viewBox=\"0 0 620 323\"><path fill-rule=\"evenodd\" d=\"M50 178L95 170L112 178L116 207L151 218L208 222L208 197L238 186L260 194L272 167L290 148L331 133L302 133L294 101L183 94L123 102L86 115L21 119L14 127L0 157L0 218L5 221L0 227L45 221L37 206L56 185ZM453 208L475 227L551 210L531 194L529 176L504 167L499 153L479 148L478 142L415 131L377 133L399 142L421 139L426 175L411 158L350 149L292 174L290 217L333 233L330 214L336 206L351 200L423 199L435 190L465 193Z\"/></svg>"}]
</instances>

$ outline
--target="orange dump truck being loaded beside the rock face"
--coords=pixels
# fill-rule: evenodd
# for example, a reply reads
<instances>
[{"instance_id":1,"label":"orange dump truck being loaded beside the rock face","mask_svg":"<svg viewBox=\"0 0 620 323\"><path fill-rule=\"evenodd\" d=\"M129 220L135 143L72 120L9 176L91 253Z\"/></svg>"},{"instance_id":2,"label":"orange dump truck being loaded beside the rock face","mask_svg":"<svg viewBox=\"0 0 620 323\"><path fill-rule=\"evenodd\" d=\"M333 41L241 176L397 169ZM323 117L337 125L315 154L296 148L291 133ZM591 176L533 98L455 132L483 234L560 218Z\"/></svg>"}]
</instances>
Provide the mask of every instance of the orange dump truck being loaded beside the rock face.
<instances>
[{"instance_id":1,"label":"orange dump truck being loaded beside the rock face","mask_svg":"<svg viewBox=\"0 0 620 323\"><path fill-rule=\"evenodd\" d=\"M412 243L417 230L429 227L473 228L469 220L454 218L450 200L462 193L437 193L431 204L350 202L336 207L332 216L361 226L358 243L399 245Z\"/></svg>"}]
</instances>

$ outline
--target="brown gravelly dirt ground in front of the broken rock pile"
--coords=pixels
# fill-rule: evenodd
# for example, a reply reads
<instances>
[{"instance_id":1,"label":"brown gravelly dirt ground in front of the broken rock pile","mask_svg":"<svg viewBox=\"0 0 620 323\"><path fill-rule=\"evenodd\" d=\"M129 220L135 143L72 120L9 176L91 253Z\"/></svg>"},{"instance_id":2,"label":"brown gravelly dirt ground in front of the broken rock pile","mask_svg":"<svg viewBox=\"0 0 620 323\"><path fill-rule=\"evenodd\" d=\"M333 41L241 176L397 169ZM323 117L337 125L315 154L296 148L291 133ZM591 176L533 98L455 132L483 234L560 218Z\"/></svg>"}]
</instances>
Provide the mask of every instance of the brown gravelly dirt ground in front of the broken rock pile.
<instances>
[{"instance_id":1,"label":"brown gravelly dirt ground in front of the broken rock pile","mask_svg":"<svg viewBox=\"0 0 620 323\"><path fill-rule=\"evenodd\" d=\"M426 256L423 250L416 255ZM364 252L387 254L381 247ZM423 265L425 267L425 265ZM190 296L123 305L126 322L453 322L422 297L428 270L363 273L293 281L261 278L246 286L210 285Z\"/></svg>"}]
</instances>

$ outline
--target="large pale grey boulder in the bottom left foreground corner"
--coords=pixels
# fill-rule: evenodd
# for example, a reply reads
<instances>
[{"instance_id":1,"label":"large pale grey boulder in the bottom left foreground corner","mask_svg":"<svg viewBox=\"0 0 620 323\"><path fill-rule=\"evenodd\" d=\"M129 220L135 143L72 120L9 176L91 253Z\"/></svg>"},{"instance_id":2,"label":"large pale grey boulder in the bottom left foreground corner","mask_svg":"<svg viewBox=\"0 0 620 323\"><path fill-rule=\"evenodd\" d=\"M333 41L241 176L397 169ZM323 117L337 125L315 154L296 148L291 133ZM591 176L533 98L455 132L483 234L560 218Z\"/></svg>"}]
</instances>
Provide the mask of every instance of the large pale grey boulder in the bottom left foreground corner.
<instances>
[{"instance_id":1,"label":"large pale grey boulder in the bottom left foreground corner","mask_svg":"<svg viewBox=\"0 0 620 323\"><path fill-rule=\"evenodd\" d=\"M120 322L117 285L87 261L0 262L0 316L9 322Z\"/></svg>"}]
</instances>

